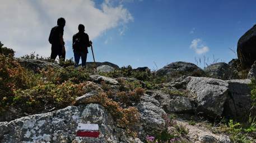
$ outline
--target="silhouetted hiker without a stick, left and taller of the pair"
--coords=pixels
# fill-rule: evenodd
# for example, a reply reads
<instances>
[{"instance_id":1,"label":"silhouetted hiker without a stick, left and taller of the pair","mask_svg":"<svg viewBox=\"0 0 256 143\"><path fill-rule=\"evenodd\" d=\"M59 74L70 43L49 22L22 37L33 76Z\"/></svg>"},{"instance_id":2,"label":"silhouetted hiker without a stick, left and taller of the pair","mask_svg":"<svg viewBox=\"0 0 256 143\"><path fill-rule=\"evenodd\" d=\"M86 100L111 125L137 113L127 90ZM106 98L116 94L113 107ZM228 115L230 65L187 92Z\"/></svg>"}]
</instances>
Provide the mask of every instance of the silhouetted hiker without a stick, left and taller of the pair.
<instances>
[{"instance_id":1,"label":"silhouetted hiker without a stick, left and taller of the pair","mask_svg":"<svg viewBox=\"0 0 256 143\"><path fill-rule=\"evenodd\" d=\"M63 32L66 21L64 18L60 17L57 21L57 26L53 27L50 31L49 42L52 44L52 53L50 58L55 60L59 56L59 60L64 60L66 57L66 51L63 41Z\"/></svg>"}]
</instances>

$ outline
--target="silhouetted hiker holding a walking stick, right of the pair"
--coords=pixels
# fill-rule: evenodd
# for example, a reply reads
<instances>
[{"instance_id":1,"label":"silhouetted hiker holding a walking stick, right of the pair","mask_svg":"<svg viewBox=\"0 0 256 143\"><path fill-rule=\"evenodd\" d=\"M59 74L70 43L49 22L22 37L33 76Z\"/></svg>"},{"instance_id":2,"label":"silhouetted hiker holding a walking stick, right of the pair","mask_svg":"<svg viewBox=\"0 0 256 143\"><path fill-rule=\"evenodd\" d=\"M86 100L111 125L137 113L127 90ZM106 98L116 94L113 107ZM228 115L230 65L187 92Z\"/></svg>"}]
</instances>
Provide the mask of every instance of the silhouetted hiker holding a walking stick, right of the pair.
<instances>
[{"instance_id":1,"label":"silhouetted hiker holding a walking stick, right of the pair","mask_svg":"<svg viewBox=\"0 0 256 143\"><path fill-rule=\"evenodd\" d=\"M89 40L89 36L85 33L85 26L79 24L78 33L73 36L73 52L75 57L75 67L78 67L80 57L82 58L82 66L86 67L86 58L87 58L87 47L92 45L92 42Z\"/></svg>"}]
</instances>

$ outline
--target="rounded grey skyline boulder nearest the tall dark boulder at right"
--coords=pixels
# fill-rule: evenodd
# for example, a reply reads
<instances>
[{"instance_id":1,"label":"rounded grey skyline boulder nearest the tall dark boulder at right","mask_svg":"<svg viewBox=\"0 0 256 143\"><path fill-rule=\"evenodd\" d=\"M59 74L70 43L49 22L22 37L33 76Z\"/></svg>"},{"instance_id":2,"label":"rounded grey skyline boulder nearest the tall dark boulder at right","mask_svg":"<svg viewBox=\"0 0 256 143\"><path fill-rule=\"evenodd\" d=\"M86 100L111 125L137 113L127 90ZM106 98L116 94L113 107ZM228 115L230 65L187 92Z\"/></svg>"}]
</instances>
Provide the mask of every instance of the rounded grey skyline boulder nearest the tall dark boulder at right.
<instances>
[{"instance_id":1,"label":"rounded grey skyline boulder nearest the tall dark boulder at right","mask_svg":"<svg viewBox=\"0 0 256 143\"><path fill-rule=\"evenodd\" d=\"M231 80L238 78L237 71L234 68L231 68L225 62L213 63L212 65L206 67L204 72L206 72L208 77L221 80Z\"/></svg>"}]
</instances>

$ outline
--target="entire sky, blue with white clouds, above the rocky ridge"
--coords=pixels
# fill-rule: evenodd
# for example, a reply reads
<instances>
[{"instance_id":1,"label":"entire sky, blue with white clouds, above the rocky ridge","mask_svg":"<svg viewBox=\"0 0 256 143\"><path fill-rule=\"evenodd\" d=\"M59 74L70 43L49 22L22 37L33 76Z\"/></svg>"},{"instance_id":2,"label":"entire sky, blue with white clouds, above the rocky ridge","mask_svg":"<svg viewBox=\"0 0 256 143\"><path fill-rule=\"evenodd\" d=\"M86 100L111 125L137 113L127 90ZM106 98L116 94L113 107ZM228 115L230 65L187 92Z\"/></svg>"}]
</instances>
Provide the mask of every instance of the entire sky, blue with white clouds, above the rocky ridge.
<instances>
[{"instance_id":1,"label":"entire sky, blue with white clouds, above the rocky ridge","mask_svg":"<svg viewBox=\"0 0 256 143\"><path fill-rule=\"evenodd\" d=\"M0 41L16 57L49 57L50 29L64 17L67 58L81 23L97 62L157 70L185 61L203 68L237 58L239 38L256 23L255 7L255 0L0 0Z\"/></svg>"}]
</instances>

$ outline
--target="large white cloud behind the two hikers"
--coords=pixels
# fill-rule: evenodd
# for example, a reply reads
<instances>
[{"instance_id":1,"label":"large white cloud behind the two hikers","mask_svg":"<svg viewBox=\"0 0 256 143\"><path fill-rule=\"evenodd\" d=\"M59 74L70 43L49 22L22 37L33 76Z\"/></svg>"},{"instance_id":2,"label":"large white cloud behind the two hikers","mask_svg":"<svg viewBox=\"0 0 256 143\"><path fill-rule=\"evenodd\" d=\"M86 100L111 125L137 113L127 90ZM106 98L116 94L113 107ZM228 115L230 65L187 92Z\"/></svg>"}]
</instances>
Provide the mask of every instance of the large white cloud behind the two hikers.
<instances>
[{"instance_id":1,"label":"large white cloud behind the two hikers","mask_svg":"<svg viewBox=\"0 0 256 143\"><path fill-rule=\"evenodd\" d=\"M8 0L0 4L0 17L0 41L13 48L18 56L33 51L49 56L48 36L59 17L66 19L66 42L72 40L80 23L93 40L108 29L133 21L122 4L109 4L108 0L100 8L92 0Z\"/></svg>"}]
</instances>

